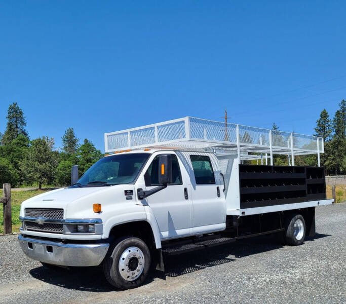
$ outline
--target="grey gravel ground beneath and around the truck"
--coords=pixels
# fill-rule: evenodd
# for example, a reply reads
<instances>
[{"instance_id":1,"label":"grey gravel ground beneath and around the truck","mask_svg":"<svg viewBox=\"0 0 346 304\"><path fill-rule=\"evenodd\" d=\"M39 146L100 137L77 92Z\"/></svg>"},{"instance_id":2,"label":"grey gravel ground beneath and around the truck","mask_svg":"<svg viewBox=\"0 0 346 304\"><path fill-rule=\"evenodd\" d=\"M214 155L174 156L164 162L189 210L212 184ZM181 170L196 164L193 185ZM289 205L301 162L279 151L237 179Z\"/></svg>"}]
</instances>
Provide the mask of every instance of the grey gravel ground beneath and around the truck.
<instances>
[{"instance_id":1,"label":"grey gravel ground beneath and around the truck","mask_svg":"<svg viewBox=\"0 0 346 304\"><path fill-rule=\"evenodd\" d=\"M315 238L270 237L175 256L144 286L114 291L100 268L48 270L0 236L0 303L345 303L346 203L321 206Z\"/></svg>"}]
</instances>

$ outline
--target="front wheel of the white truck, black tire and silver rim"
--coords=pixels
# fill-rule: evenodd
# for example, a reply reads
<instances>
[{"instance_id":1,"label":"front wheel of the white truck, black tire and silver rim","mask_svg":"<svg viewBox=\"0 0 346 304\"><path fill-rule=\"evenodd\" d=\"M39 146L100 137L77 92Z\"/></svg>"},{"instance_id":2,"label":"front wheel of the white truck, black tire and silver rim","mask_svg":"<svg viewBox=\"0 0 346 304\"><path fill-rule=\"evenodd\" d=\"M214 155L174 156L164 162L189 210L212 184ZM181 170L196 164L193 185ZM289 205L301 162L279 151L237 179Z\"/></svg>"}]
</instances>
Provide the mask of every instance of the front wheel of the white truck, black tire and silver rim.
<instances>
[{"instance_id":1,"label":"front wheel of the white truck, black tire and silver rim","mask_svg":"<svg viewBox=\"0 0 346 304\"><path fill-rule=\"evenodd\" d=\"M140 286L148 275L150 251L139 238L123 237L108 249L103 262L107 281L120 289Z\"/></svg>"}]
</instances>

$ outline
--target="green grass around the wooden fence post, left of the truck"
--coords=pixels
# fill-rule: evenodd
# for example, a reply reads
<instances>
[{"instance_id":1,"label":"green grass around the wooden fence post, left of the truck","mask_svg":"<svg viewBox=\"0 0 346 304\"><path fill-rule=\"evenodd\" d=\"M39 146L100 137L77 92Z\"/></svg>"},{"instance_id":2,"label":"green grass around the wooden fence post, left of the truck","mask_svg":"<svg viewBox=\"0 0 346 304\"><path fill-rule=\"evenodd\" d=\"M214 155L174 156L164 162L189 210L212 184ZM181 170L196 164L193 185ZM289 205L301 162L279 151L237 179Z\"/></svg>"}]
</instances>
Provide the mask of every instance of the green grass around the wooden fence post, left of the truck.
<instances>
[{"instance_id":1,"label":"green grass around the wooden fence post, left of the truck","mask_svg":"<svg viewBox=\"0 0 346 304\"><path fill-rule=\"evenodd\" d=\"M12 202L12 232L19 232L21 225L19 221L20 205L23 201L44 193L44 190L33 190L33 191L12 191L11 202ZM3 197L3 191L0 190L0 197ZM4 211L3 204L0 204L0 234L4 233Z\"/></svg>"}]
</instances>

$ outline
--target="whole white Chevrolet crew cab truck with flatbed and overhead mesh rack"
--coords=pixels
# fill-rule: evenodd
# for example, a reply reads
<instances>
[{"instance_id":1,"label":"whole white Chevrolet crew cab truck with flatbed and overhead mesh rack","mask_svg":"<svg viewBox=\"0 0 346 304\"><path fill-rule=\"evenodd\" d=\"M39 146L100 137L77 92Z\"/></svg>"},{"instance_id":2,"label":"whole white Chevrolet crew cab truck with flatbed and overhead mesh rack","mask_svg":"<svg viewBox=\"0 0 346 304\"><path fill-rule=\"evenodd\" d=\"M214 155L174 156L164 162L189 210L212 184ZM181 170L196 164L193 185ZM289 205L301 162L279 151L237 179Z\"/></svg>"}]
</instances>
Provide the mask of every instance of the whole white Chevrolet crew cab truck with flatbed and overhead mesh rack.
<instances>
[{"instance_id":1,"label":"whole white Chevrolet crew cab truck with flatbed and overhead mesh rack","mask_svg":"<svg viewBox=\"0 0 346 304\"><path fill-rule=\"evenodd\" d=\"M294 166L296 155L319 162L319 137L185 117L104 138L109 155L79 180L22 203L27 256L102 265L128 289L169 254L272 233L300 245L315 235L315 207L332 203L323 168ZM273 165L275 155L290 166Z\"/></svg>"}]
</instances>

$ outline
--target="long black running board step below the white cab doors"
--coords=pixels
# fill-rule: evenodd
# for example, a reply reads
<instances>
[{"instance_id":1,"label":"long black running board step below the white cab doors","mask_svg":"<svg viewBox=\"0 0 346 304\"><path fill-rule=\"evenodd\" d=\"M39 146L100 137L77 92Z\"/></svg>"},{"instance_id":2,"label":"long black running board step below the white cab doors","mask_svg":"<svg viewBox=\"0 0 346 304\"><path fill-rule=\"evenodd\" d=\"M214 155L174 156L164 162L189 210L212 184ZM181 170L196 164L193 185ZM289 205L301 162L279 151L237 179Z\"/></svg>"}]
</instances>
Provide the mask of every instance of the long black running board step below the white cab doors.
<instances>
[{"instance_id":1,"label":"long black running board step below the white cab doors","mask_svg":"<svg viewBox=\"0 0 346 304\"><path fill-rule=\"evenodd\" d=\"M169 255L175 255L195 250L201 250L207 247L214 247L218 245L223 245L227 243L233 243L235 242L235 238L218 238L218 239L209 239L205 241L199 241L196 243L188 243L188 244L180 244L180 245L172 245L170 247L164 247L162 248L162 253L169 254Z\"/></svg>"}]
</instances>

